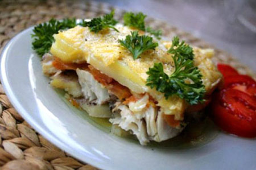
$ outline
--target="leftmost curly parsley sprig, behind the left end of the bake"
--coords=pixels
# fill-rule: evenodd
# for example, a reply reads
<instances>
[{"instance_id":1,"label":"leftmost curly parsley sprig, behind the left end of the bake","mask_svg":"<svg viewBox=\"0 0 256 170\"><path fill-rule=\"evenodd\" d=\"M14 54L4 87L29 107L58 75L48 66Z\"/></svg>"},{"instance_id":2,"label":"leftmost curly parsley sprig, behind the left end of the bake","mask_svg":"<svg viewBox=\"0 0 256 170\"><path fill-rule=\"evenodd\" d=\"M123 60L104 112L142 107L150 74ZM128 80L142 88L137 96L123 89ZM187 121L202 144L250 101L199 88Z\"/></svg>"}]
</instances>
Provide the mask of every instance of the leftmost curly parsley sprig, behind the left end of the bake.
<instances>
[{"instance_id":1,"label":"leftmost curly parsley sprig, behind the left end of the bake","mask_svg":"<svg viewBox=\"0 0 256 170\"><path fill-rule=\"evenodd\" d=\"M33 29L34 38L32 48L39 56L47 53L54 42L53 34L57 34L59 30L65 30L76 26L76 19L63 19L62 21L51 19L48 23L38 24Z\"/></svg>"}]
</instances>

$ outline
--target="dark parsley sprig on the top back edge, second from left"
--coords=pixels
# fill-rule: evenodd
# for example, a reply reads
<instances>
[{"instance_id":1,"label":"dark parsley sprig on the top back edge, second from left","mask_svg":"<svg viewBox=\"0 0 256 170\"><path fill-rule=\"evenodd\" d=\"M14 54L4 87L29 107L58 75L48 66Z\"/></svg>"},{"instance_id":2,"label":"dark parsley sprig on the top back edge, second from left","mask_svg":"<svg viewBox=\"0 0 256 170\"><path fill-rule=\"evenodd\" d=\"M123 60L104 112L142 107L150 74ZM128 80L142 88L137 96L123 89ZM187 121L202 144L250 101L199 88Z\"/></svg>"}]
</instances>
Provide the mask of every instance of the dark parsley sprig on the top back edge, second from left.
<instances>
[{"instance_id":1,"label":"dark parsley sprig on the top back edge, second from left","mask_svg":"<svg viewBox=\"0 0 256 170\"><path fill-rule=\"evenodd\" d=\"M110 14L104 15L103 18L93 18L88 22L83 21L81 23L82 26L89 27L90 31L93 31L95 33L105 28L112 28L115 31L119 32L117 28L114 27L115 24L117 24L117 20L114 19L114 10L112 10Z\"/></svg>"}]
</instances>

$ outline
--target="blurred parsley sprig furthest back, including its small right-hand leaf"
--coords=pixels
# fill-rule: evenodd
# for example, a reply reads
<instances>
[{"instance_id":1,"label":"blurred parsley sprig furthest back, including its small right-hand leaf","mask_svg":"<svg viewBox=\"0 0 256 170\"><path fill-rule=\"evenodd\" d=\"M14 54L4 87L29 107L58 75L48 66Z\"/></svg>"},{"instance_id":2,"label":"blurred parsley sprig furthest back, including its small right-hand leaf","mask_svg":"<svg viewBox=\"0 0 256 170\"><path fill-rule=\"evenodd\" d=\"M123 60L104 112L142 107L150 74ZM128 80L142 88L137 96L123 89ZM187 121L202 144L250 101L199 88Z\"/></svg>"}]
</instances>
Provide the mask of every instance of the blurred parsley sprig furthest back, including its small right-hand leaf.
<instances>
[{"instance_id":1,"label":"blurred parsley sprig furthest back, including its small right-hand leaf","mask_svg":"<svg viewBox=\"0 0 256 170\"><path fill-rule=\"evenodd\" d=\"M125 13L123 15L123 22L125 26L134 27L138 30L146 31L152 35L155 36L156 39L160 39L160 36L162 35L161 30L153 30L151 27L145 26L144 19L147 15L144 15L143 13Z\"/></svg>"}]
</instances>

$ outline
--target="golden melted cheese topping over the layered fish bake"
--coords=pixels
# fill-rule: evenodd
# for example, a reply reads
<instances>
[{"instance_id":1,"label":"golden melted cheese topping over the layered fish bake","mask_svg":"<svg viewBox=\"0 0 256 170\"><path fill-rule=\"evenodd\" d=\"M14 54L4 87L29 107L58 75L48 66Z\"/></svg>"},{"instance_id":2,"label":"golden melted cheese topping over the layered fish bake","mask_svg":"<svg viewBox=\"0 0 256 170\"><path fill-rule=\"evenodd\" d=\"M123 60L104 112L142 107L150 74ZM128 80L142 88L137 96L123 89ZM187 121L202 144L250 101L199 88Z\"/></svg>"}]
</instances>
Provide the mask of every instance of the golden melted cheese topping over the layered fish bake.
<instances>
[{"instance_id":1,"label":"golden melted cheese topping over the layered fish bake","mask_svg":"<svg viewBox=\"0 0 256 170\"><path fill-rule=\"evenodd\" d=\"M88 27L81 26L59 32L54 35L55 43L51 47L51 53L66 63L86 61L120 84L127 86L132 92L149 93L158 101L158 105L165 114L174 114L175 119L182 120L184 110L188 106L187 102L176 96L166 100L162 93L146 86L148 77L146 72L154 66L154 63L163 63L164 72L167 74L174 71L172 57L167 53L171 42L154 39L159 46L155 50L142 53L139 59L134 60L132 54L118 42L118 39L125 39L134 30L122 24L117 24L115 28L119 32L107 29L95 34L90 32ZM144 32L140 32L140 34L144 34ZM207 93L210 93L221 80L221 73L210 60L213 50L193 49L194 64L200 69L205 89Z\"/></svg>"}]
</instances>

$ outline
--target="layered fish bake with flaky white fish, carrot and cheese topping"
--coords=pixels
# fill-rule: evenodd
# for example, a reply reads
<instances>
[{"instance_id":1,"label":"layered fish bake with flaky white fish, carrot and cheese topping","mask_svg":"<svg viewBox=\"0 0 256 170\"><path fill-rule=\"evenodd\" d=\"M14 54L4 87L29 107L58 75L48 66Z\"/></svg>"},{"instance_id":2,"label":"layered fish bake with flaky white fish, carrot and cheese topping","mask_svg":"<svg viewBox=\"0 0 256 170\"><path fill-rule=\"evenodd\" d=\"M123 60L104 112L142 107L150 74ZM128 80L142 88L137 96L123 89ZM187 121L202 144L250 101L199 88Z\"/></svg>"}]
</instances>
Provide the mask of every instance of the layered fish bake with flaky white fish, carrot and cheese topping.
<instances>
[{"instance_id":1,"label":"layered fish bake with flaky white fish, carrot and cheese topping","mask_svg":"<svg viewBox=\"0 0 256 170\"><path fill-rule=\"evenodd\" d=\"M78 98L69 93L71 90L66 91L76 101L84 99L88 105L108 105L111 112L105 117L111 117L111 123L136 135L143 145L150 140L160 142L176 136L185 126L184 113L190 105L177 96L166 99L163 93L146 86L146 72L154 63L163 63L167 74L174 72L171 54L167 53L171 41L154 39L158 47L134 60L131 53L118 42L118 39L125 39L134 30L122 24L117 24L115 28L119 32L102 30L95 34L81 26L60 31L54 35L55 42L50 51L54 57L43 60L44 73L49 76L49 73L56 72L51 67L55 57L64 64L86 63L89 68L71 69L77 74L76 82L79 82L82 95ZM193 47L193 52L193 63L203 76L205 94L209 96L222 78L211 60L214 52L197 47ZM59 72L67 71L60 69ZM106 77L108 81L104 79ZM91 115L101 117L100 114ZM167 123L166 120L170 119L173 125Z\"/></svg>"}]
</instances>

